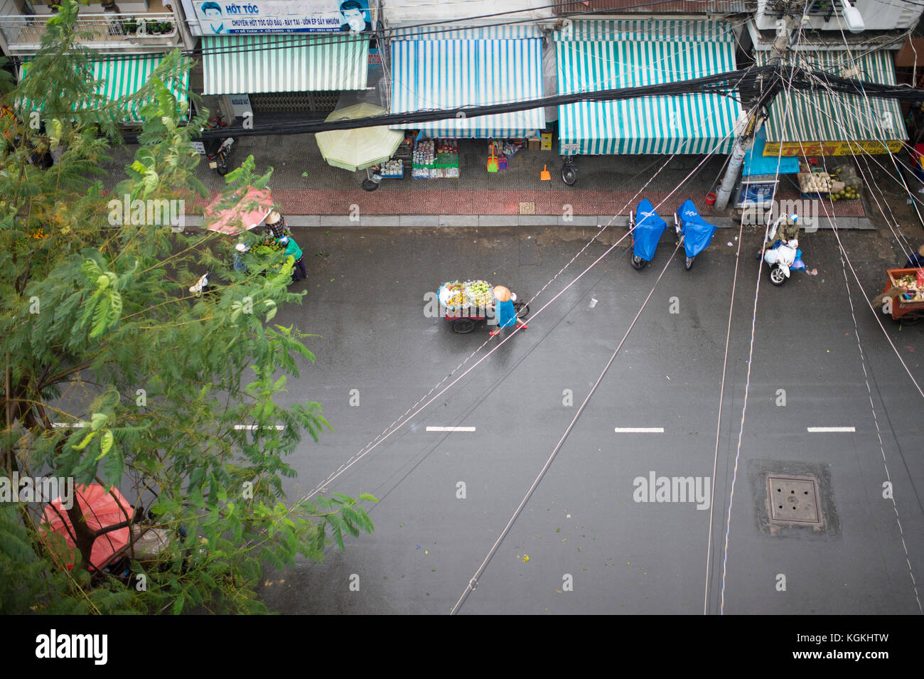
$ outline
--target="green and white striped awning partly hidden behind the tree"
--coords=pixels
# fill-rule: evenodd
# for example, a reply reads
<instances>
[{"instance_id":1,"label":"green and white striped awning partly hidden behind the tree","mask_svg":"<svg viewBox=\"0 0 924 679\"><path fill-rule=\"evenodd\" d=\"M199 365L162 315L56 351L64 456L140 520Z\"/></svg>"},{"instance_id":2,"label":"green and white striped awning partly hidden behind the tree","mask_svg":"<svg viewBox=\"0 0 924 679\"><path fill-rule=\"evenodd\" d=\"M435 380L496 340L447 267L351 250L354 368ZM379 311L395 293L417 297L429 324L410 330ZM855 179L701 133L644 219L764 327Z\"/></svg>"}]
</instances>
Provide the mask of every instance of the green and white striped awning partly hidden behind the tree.
<instances>
[{"instance_id":1,"label":"green and white striped awning partly hidden behind the tree","mask_svg":"<svg viewBox=\"0 0 924 679\"><path fill-rule=\"evenodd\" d=\"M154 69L161 63L159 56L115 56L111 59L102 59L100 61L91 61L89 66L91 74L89 78L97 83L94 89L95 94L103 94L110 101L115 102L123 97L139 91L154 72ZM20 79L28 77L30 62L25 62L20 71ZM170 79L164 83L167 89L176 97L177 103L187 100L187 91L189 89L189 73L184 72L182 78ZM122 123L140 123L144 117L140 114L141 107L150 100L143 102L128 103L123 106L124 117ZM42 111L43 104L28 101L16 103L20 111ZM86 106L74 105L74 110L86 108Z\"/></svg>"}]
</instances>

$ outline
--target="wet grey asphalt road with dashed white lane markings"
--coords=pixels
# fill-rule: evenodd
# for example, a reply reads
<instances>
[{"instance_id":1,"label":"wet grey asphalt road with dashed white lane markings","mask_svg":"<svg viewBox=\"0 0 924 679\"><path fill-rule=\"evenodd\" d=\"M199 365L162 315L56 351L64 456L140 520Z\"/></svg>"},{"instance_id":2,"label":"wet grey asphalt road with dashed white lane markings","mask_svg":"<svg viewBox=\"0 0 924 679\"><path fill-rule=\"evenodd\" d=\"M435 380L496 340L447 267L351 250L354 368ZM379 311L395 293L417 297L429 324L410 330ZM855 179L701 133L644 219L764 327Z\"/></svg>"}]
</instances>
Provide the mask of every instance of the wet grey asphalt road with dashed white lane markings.
<instances>
[{"instance_id":1,"label":"wet grey asphalt road with dashed white lane markings","mask_svg":"<svg viewBox=\"0 0 924 679\"><path fill-rule=\"evenodd\" d=\"M269 572L261 596L271 610L450 611L674 250L665 240L650 267L636 272L626 240L542 309L624 233L604 233L532 301L528 331L329 484L329 491L367 491L380 499L371 511L375 532L349 539L346 552L330 550L323 564ZM881 290L885 268L900 263L897 246L875 232L842 234L863 284L859 290L851 277L849 289L869 388L833 234L800 240L817 276L794 273L774 288L760 273L736 455L760 239L746 231L716 455L736 252L727 243L736 245L736 233L720 230L689 272L679 254L670 261L461 612L702 613L704 606L711 613L721 607L726 613L920 612L909 563L921 582L924 400L864 302ZM280 310L277 321L321 336L308 342L316 363L289 382L287 396L320 401L335 431L299 447L292 460L298 479L287 481L290 499L313 490L403 420L434 385L443 382L431 396L496 346L485 330L460 335L446 321L427 318L426 292L445 280L478 277L532 297L591 235L560 227L297 231L309 267L309 282L300 285L309 295L301 307ZM924 384L924 324L880 318ZM351 390L359 390L359 406L350 405ZM566 390L573 405L566 404ZM784 406L777 405L779 390ZM426 430L434 426L476 430ZM617 427L663 433L616 433ZM809 433L808 427L856 431ZM822 480L822 530L766 525L761 473L767 471ZM714 488L714 500L705 498L701 508L635 502L634 479L651 472L700 478L706 495ZM890 479L894 503L883 498ZM460 483L464 499L457 497Z\"/></svg>"}]
</instances>

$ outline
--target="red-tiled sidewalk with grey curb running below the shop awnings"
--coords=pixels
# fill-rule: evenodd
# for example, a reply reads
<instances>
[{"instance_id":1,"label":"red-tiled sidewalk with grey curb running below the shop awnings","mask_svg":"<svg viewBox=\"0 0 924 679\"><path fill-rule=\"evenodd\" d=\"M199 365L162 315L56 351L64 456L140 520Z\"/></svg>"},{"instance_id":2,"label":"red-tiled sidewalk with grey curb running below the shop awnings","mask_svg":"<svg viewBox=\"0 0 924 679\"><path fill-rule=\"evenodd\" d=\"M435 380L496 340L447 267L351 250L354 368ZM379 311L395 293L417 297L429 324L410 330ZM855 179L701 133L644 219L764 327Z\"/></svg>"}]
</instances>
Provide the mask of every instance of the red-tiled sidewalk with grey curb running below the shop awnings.
<instances>
[{"instance_id":1,"label":"red-tiled sidewalk with grey curb running below the shop awnings","mask_svg":"<svg viewBox=\"0 0 924 679\"><path fill-rule=\"evenodd\" d=\"M240 164L253 155L258 173L273 166L274 201L294 226L589 226L611 220L625 225L628 212L644 198L668 223L671 212L690 199L707 219L720 226L733 225L729 216L716 214L705 204L706 193L723 172L724 156L703 162L703 156L678 155L660 172L663 156L579 157L577 184L568 187L555 152L524 150L510 159L507 169L488 173L486 141L463 140L459 147L459 177L412 179L408 170L404 179L384 179L371 192L359 188L365 171L351 173L324 162L314 135L239 138L231 163ZM107 169L115 172L116 180L135 149L113 153ZM551 181L540 179L543 165L548 166ZM193 202L194 214L225 187L224 177L211 170L204 158L197 176L211 196ZM106 188L115 183L110 181ZM778 199L799 199L788 176L781 177L780 186ZM860 200L836 203L834 212L838 228L874 228ZM621 216L614 220L614 215ZM190 225L196 221L188 218Z\"/></svg>"}]
</instances>

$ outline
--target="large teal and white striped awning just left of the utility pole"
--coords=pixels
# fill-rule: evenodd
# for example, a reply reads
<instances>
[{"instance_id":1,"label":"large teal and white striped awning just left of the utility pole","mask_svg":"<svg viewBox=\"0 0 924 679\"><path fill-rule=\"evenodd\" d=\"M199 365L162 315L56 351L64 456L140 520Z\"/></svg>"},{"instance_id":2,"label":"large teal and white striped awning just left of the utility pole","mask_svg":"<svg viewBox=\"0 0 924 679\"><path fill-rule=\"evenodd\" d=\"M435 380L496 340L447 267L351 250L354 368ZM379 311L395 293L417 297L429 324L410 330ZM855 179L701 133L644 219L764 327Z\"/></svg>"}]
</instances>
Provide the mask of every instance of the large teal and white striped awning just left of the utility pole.
<instances>
[{"instance_id":1,"label":"large teal and white striped awning just left of the utility pole","mask_svg":"<svg viewBox=\"0 0 924 679\"><path fill-rule=\"evenodd\" d=\"M638 87L733 71L735 38L721 21L572 21L555 33L558 92ZM558 107L560 152L727 153L741 106L682 94Z\"/></svg>"}]
</instances>

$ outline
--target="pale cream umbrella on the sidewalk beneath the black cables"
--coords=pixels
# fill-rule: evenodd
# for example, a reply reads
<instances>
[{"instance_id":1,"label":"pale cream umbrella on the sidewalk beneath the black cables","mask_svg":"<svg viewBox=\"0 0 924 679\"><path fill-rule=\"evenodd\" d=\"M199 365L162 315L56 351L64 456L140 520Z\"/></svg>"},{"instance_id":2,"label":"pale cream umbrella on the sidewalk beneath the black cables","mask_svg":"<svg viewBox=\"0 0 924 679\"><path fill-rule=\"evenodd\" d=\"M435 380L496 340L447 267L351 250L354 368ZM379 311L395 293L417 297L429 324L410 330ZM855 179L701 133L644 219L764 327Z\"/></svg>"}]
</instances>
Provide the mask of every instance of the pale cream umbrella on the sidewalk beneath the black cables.
<instances>
[{"instance_id":1,"label":"pale cream umbrella on the sidewalk beneath the black cables","mask_svg":"<svg viewBox=\"0 0 924 679\"><path fill-rule=\"evenodd\" d=\"M328 115L326 120L347 120L370 115L383 115L385 109L373 103L357 103ZM315 133L318 147L328 164L356 172L370 165L384 163L394 155L404 139L399 129L359 127L358 129L331 129Z\"/></svg>"}]
</instances>

